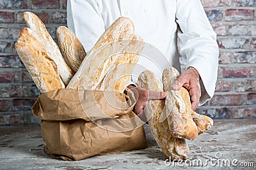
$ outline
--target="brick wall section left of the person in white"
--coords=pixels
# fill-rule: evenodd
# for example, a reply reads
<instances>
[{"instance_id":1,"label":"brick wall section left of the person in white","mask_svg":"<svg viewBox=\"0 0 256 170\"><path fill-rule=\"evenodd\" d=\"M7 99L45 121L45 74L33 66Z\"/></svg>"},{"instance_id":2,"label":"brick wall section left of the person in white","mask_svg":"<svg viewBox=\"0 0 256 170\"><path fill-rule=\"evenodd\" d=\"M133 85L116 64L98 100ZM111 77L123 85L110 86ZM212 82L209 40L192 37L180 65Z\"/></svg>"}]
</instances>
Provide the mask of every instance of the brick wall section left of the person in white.
<instances>
[{"instance_id":1,"label":"brick wall section left of the person in white","mask_svg":"<svg viewBox=\"0 0 256 170\"><path fill-rule=\"evenodd\" d=\"M52 38L66 25L67 0L0 0L0 125L37 124L31 106L40 91L14 49L19 31L26 27L24 11L32 11L45 23Z\"/></svg>"}]
</instances>

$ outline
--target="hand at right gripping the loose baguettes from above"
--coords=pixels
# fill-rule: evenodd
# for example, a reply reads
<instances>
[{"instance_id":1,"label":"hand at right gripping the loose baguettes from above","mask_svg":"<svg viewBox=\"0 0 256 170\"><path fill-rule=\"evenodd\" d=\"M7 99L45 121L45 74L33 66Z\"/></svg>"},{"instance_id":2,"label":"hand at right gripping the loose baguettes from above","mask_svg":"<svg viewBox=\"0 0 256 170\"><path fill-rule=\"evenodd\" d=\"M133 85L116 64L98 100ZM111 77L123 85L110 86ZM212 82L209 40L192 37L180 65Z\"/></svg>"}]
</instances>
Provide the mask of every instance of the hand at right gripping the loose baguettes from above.
<instances>
[{"instance_id":1,"label":"hand at right gripping the loose baguettes from above","mask_svg":"<svg viewBox=\"0 0 256 170\"><path fill-rule=\"evenodd\" d=\"M172 90L179 90L182 86L189 90L189 96L191 99L191 108L195 110L199 104L199 98L201 96L200 89L200 75L194 67L188 67L186 71L180 74L179 78L173 83Z\"/></svg>"}]
</instances>

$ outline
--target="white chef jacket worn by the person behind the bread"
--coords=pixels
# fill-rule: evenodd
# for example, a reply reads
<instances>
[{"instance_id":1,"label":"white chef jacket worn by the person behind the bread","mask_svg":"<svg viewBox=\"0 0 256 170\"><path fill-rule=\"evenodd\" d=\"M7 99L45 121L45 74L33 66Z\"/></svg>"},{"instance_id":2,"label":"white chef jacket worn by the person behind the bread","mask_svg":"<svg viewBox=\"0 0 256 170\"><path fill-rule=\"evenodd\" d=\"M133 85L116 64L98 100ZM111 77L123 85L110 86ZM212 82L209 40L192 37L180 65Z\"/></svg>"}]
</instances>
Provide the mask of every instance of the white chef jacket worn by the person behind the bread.
<instances>
[{"instance_id":1,"label":"white chef jacket worn by the person behind the bread","mask_svg":"<svg viewBox=\"0 0 256 170\"><path fill-rule=\"evenodd\" d=\"M215 89L218 70L216 33L205 15L200 0L68 0L67 25L88 52L118 17L128 17L152 53L159 50L164 56L152 56L161 65L180 71L180 54L187 57L186 67L195 67L200 74L200 104L209 100ZM178 27L179 25L179 27ZM179 39L179 41L177 41ZM179 45L177 45L179 43ZM178 50L179 46L179 50ZM150 51L151 52L151 51ZM147 53L147 52L145 52ZM156 59L154 59L156 57ZM147 57L140 57L145 69L155 72L161 80L159 67L150 66ZM160 61L159 61L160 60ZM147 64L145 64L147 63ZM137 73L139 74L139 73ZM135 81L132 79L132 81Z\"/></svg>"}]
</instances>

